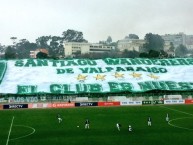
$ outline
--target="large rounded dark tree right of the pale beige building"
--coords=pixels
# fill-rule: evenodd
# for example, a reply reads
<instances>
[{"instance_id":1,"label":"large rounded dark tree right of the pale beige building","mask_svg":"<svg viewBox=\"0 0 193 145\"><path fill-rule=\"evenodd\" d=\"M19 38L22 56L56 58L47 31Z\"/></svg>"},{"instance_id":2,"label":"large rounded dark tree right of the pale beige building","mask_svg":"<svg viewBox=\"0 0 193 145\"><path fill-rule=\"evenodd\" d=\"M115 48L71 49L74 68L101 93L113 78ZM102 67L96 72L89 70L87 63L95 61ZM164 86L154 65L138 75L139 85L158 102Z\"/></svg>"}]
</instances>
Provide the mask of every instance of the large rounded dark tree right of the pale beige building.
<instances>
[{"instance_id":1,"label":"large rounded dark tree right of the pale beige building","mask_svg":"<svg viewBox=\"0 0 193 145\"><path fill-rule=\"evenodd\" d=\"M143 48L145 48L146 51L160 51L164 49L164 40L160 35L149 33L145 35L144 39L146 43L143 45Z\"/></svg>"}]
</instances>

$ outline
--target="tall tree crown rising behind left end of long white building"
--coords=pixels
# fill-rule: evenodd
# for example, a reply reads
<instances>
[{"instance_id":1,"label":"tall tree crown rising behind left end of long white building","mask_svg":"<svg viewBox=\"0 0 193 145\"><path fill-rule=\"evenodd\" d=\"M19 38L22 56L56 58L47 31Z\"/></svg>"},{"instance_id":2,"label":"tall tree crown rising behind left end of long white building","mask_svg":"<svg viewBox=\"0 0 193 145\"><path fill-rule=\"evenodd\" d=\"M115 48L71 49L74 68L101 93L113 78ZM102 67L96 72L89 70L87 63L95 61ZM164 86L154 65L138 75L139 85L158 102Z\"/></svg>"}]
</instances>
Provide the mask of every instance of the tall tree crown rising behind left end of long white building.
<instances>
[{"instance_id":1,"label":"tall tree crown rising behind left end of long white building","mask_svg":"<svg viewBox=\"0 0 193 145\"><path fill-rule=\"evenodd\" d=\"M62 33L65 42L88 42L83 38L83 33L68 29Z\"/></svg>"}]
</instances>

